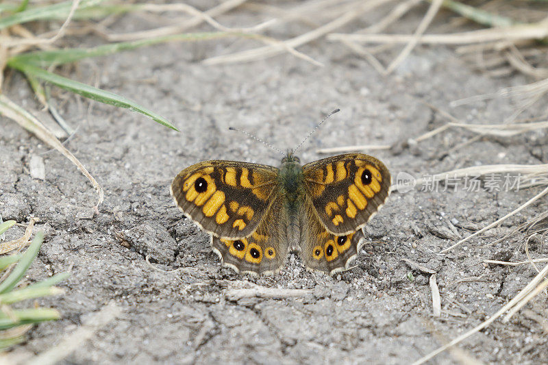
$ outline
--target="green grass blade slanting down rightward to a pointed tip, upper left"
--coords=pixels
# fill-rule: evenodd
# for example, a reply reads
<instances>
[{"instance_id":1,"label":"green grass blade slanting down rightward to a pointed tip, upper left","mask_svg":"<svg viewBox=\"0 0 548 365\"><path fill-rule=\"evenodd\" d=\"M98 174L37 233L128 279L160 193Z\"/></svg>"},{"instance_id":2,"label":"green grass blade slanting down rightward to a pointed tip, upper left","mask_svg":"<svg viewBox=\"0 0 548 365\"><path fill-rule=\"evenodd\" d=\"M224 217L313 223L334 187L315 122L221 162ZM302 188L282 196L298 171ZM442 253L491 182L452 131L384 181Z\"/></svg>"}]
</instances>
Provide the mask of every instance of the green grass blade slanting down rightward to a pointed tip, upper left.
<instances>
[{"instance_id":1,"label":"green grass blade slanting down rightward to a pointed tip, upper left","mask_svg":"<svg viewBox=\"0 0 548 365\"><path fill-rule=\"evenodd\" d=\"M125 97L121 97L120 95L116 95L113 92L108 92L105 90L94 88L93 86L82 84L78 81L67 79L66 77L62 77L56 75L55 73L45 71L42 68L33 66L31 64L16 62L16 60L10 60L8 61L8 64L10 67L15 68L18 71L33 75L34 77L38 77L39 79L42 79L44 81L51 82L51 84L55 84L56 86L64 88L65 90L75 92L76 94L82 95L83 97L95 101L100 101L101 103L114 105L120 108L127 108L129 110L133 110L134 112L139 112L140 114L148 116L153 121L160 123L161 125L165 125L166 127L179 131L179 129L171 125L171 123L169 123L169 121L167 121L164 117L142 107L135 101L132 101Z\"/></svg>"}]
</instances>

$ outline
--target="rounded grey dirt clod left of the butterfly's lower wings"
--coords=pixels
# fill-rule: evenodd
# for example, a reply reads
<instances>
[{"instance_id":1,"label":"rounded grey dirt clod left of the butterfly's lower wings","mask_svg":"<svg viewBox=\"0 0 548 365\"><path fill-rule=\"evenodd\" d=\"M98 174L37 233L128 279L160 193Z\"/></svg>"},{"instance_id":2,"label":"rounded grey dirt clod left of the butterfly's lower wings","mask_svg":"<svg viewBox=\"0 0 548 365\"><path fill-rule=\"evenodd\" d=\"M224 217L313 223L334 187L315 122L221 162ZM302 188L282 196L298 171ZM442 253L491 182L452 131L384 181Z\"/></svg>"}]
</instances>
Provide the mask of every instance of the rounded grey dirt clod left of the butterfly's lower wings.
<instances>
[{"instance_id":1,"label":"rounded grey dirt clod left of the butterfly's lower wings","mask_svg":"<svg viewBox=\"0 0 548 365\"><path fill-rule=\"evenodd\" d=\"M177 242L164 226L155 222L145 222L124 231L123 240L141 255L149 256L160 264L171 264L175 260Z\"/></svg>"}]
</instances>

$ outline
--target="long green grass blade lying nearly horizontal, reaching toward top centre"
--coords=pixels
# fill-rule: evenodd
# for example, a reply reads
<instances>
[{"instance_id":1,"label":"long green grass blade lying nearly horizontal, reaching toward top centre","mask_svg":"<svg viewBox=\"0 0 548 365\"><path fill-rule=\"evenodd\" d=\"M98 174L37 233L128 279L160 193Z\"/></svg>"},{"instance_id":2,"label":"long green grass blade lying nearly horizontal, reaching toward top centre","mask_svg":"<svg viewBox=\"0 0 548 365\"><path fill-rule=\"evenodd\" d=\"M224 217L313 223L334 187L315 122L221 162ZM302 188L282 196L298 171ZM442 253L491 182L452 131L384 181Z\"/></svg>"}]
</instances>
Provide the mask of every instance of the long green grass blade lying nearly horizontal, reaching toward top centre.
<instances>
[{"instance_id":1,"label":"long green grass blade lying nearly horizontal, reaching toward top centre","mask_svg":"<svg viewBox=\"0 0 548 365\"><path fill-rule=\"evenodd\" d=\"M93 48L73 48L59 49L55 51L27 52L21 53L20 55L15 55L14 57L10 58L10 60L8 60L8 65L15 62L32 64L33 66L47 68L52 65L66 64L69 62L75 62L90 57L112 55L121 51L128 51L139 47L156 45L158 43L208 40L214 38L223 38L227 36L245 36L245 34L227 32L184 33L144 40L134 40L132 42L118 42L109 45L100 45Z\"/></svg>"}]
</instances>

